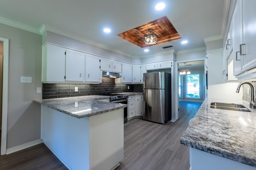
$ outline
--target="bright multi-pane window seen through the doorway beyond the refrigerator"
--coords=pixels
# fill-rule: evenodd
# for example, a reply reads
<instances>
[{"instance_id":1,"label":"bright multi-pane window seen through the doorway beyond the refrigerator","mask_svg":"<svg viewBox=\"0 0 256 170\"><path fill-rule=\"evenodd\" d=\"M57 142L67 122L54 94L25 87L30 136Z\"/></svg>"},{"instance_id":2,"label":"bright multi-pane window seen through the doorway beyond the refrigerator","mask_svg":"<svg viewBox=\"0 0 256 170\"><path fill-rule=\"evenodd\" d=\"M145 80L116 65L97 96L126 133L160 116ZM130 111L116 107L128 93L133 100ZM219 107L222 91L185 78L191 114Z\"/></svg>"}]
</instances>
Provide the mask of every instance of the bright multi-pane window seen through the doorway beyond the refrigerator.
<instances>
[{"instance_id":1,"label":"bright multi-pane window seen through the doorway beyond the refrigerator","mask_svg":"<svg viewBox=\"0 0 256 170\"><path fill-rule=\"evenodd\" d=\"M200 98L199 77L199 74L186 74L186 98Z\"/></svg>"}]
</instances>

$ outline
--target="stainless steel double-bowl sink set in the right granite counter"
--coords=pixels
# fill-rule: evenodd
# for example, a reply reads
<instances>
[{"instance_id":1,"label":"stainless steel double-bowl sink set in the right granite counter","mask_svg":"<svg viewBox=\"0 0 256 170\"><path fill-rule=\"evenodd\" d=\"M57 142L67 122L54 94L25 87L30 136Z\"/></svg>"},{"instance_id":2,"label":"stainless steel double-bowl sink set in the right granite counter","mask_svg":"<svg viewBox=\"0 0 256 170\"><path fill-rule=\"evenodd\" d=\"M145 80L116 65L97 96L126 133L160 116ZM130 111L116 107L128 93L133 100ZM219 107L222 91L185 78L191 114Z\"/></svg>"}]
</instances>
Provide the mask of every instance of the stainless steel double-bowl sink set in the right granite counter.
<instances>
[{"instance_id":1,"label":"stainless steel double-bowl sink set in the right granite counter","mask_svg":"<svg viewBox=\"0 0 256 170\"><path fill-rule=\"evenodd\" d=\"M251 112L248 108L240 104L228 104L228 103L211 103L211 108L214 109L223 109L223 110L232 110L232 111L246 111Z\"/></svg>"}]
</instances>

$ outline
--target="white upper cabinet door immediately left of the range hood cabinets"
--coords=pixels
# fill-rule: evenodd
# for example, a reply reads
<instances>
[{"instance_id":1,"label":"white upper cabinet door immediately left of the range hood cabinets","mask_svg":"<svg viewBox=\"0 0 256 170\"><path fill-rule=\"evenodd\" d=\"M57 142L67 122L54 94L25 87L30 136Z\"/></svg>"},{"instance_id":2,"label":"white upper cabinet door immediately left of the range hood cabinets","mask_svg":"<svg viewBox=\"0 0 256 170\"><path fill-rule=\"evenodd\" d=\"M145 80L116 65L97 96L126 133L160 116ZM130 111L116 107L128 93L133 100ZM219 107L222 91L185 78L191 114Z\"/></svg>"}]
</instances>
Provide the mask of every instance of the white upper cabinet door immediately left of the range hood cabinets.
<instances>
[{"instance_id":1,"label":"white upper cabinet door immediately left of the range hood cabinets","mask_svg":"<svg viewBox=\"0 0 256 170\"><path fill-rule=\"evenodd\" d=\"M95 55L85 56L85 81L99 82L100 81L100 59Z\"/></svg>"}]
</instances>

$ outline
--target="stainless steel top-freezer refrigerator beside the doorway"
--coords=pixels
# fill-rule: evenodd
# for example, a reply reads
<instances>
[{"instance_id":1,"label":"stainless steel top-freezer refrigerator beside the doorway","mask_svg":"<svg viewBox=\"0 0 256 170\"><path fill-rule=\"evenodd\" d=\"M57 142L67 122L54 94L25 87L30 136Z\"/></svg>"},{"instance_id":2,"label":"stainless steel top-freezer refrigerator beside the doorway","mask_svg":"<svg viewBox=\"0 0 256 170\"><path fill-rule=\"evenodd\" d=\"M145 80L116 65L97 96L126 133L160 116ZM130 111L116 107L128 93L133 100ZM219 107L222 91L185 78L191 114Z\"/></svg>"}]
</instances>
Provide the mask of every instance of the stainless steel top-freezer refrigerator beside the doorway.
<instances>
[{"instance_id":1,"label":"stainless steel top-freezer refrigerator beside the doorway","mask_svg":"<svg viewBox=\"0 0 256 170\"><path fill-rule=\"evenodd\" d=\"M143 119L166 123L171 119L171 74L143 74Z\"/></svg>"}]
</instances>

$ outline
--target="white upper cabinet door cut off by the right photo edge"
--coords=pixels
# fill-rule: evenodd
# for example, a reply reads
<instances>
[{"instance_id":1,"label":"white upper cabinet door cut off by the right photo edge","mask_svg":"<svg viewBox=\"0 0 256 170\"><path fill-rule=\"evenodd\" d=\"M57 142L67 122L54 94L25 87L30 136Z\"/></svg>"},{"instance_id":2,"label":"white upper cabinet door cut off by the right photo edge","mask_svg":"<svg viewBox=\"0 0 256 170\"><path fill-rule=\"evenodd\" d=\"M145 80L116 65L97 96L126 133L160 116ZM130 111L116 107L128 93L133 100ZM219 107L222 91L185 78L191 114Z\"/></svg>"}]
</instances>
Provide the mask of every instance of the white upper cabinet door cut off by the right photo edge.
<instances>
[{"instance_id":1,"label":"white upper cabinet door cut off by the right photo edge","mask_svg":"<svg viewBox=\"0 0 256 170\"><path fill-rule=\"evenodd\" d=\"M242 0L243 44L242 71L256 67L256 0Z\"/></svg>"}]
</instances>

